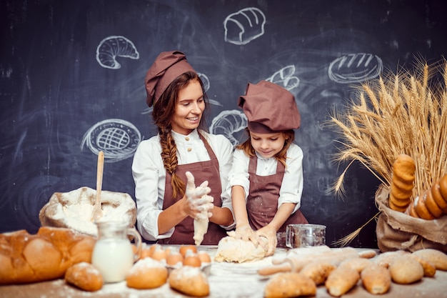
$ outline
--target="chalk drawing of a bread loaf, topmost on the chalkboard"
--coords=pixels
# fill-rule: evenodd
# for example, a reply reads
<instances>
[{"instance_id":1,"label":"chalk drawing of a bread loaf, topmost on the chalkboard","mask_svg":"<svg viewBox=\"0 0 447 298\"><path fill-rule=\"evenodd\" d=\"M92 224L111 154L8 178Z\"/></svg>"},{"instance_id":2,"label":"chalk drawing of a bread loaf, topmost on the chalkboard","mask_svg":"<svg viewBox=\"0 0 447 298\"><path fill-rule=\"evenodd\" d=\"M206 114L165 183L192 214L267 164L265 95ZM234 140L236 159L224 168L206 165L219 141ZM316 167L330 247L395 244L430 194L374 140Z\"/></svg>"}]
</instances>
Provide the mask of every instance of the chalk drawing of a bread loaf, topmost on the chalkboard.
<instances>
[{"instance_id":1,"label":"chalk drawing of a bread loaf, topmost on the chalkboard","mask_svg":"<svg viewBox=\"0 0 447 298\"><path fill-rule=\"evenodd\" d=\"M266 16L256 7L241 9L224 21L225 41L231 44L248 44L264 34Z\"/></svg>"}]
</instances>

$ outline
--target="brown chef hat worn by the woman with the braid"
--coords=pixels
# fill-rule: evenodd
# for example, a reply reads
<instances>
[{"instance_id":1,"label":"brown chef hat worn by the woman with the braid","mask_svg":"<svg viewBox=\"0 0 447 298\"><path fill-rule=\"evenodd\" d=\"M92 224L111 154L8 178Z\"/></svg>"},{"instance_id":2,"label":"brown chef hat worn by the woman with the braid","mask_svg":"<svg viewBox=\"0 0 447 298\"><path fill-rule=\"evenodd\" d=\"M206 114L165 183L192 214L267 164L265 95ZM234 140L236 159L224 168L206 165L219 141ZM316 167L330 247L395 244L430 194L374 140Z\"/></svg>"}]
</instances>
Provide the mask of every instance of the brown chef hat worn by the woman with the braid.
<instances>
[{"instance_id":1,"label":"brown chef hat worn by the woman with the braid","mask_svg":"<svg viewBox=\"0 0 447 298\"><path fill-rule=\"evenodd\" d=\"M177 76L186 71L196 72L181 51L163 51L146 73L146 104L152 106Z\"/></svg>"}]
</instances>

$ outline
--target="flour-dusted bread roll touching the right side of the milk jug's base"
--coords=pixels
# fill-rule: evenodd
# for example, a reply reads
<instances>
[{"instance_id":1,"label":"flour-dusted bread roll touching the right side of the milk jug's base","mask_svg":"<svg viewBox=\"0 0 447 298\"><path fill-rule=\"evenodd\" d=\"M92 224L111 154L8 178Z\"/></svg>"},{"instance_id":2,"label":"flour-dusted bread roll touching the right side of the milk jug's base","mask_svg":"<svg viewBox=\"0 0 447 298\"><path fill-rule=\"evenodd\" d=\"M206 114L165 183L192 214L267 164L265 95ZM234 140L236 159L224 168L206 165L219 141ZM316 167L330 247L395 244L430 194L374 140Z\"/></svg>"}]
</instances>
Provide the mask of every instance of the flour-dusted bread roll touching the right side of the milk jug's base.
<instances>
[{"instance_id":1,"label":"flour-dusted bread roll touching the right side of the milk jug's base","mask_svg":"<svg viewBox=\"0 0 447 298\"><path fill-rule=\"evenodd\" d=\"M152 259L139 259L126 275L127 287L134 289L154 289L161 287L168 279L168 269L161 262Z\"/></svg>"}]
</instances>

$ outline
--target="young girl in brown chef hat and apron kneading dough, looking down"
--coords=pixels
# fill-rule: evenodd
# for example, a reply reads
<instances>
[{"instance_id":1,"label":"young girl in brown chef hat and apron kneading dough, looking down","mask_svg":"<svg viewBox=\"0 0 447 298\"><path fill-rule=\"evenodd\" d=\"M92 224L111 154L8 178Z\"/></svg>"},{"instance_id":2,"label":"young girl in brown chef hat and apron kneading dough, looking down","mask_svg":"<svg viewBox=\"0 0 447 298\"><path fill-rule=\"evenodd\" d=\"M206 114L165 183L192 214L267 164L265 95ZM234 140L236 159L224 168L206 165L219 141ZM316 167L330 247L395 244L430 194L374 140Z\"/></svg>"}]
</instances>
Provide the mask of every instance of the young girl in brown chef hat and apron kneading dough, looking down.
<instances>
[{"instance_id":1,"label":"young girl in brown chef hat and apron kneading dough, looking down","mask_svg":"<svg viewBox=\"0 0 447 298\"><path fill-rule=\"evenodd\" d=\"M273 254L277 232L307 223L299 209L303 152L293 144L300 114L293 94L277 84L248 84L238 106L248 120L248 139L236 146L228 187L238 239L265 245ZM256 232L255 232L256 231Z\"/></svg>"}]
</instances>

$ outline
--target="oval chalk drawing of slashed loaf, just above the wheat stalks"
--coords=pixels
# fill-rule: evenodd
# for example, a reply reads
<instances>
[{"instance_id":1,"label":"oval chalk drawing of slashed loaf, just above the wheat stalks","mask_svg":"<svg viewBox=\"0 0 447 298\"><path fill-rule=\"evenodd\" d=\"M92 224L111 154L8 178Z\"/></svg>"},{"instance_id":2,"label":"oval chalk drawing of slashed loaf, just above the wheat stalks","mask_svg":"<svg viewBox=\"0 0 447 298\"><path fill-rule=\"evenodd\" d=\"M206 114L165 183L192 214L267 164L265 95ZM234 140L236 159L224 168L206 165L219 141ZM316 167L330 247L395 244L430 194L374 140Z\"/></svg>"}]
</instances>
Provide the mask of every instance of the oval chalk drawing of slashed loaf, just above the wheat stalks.
<instances>
[{"instance_id":1,"label":"oval chalk drawing of slashed loaf, just above the wheat stalks","mask_svg":"<svg viewBox=\"0 0 447 298\"><path fill-rule=\"evenodd\" d=\"M341 56L331 62L328 76L341 84L358 83L381 74L382 60L373 54L358 53Z\"/></svg>"}]
</instances>

